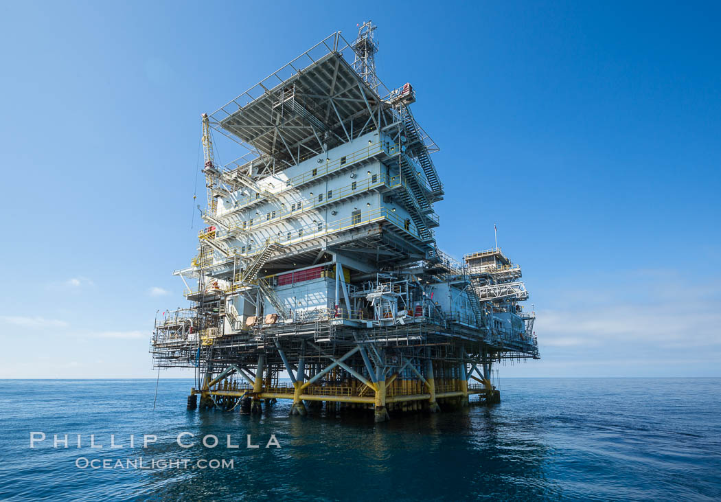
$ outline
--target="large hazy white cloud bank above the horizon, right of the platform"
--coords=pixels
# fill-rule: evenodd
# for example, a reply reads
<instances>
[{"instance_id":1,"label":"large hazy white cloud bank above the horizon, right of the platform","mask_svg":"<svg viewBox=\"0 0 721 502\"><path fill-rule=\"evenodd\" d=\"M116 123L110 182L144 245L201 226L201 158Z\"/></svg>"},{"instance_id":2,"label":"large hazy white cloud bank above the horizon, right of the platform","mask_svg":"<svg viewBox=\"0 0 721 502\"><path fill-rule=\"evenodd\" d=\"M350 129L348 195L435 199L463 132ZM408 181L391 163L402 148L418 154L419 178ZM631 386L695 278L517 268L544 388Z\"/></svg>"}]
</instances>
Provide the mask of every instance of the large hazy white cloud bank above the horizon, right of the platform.
<instances>
[{"instance_id":1,"label":"large hazy white cloud bank above the horizon, right of the platform","mask_svg":"<svg viewBox=\"0 0 721 502\"><path fill-rule=\"evenodd\" d=\"M721 345L717 283L696 282L673 270L641 270L632 276L630 287L596 284L590 298L567 290L557 309L536 309L541 347L642 344L645 351L668 351Z\"/></svg>"}]
</instances>

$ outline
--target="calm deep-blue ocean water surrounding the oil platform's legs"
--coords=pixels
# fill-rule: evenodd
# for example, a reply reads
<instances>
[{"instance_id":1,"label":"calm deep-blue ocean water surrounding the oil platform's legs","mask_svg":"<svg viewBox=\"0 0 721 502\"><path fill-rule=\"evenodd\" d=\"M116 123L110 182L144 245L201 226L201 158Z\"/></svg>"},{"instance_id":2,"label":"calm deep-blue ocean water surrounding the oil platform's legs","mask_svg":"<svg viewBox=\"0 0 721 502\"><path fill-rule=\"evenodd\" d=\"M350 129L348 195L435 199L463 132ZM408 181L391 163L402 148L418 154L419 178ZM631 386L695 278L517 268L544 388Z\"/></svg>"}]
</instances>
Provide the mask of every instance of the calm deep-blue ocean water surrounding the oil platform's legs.
<instances>
[{"instance_id":1,"label":"calm deep-blue ocean water surrounding the oil platform's legs","mask_svg":"<svg viewBox=\"0 0 721 502\"><path fill-rule=\"evenodd\" d=\"M152 410L154 380L2 381L0 498L721 499L721 379L501 379L500 405L378 425L372 414L289 417L285 401L261 416L189 412L192 385L161 380ZM46 436L34 449L31 432ZM195 446L178 446L182 432ZM143 448L143 434L157 441ZM280 448L265 447L273 434ZM206 435L218 446L200 444ZM128 467L141 457L154 468ZM221 467L201 468L213 460Z\"/></svg>"}]
</instances>

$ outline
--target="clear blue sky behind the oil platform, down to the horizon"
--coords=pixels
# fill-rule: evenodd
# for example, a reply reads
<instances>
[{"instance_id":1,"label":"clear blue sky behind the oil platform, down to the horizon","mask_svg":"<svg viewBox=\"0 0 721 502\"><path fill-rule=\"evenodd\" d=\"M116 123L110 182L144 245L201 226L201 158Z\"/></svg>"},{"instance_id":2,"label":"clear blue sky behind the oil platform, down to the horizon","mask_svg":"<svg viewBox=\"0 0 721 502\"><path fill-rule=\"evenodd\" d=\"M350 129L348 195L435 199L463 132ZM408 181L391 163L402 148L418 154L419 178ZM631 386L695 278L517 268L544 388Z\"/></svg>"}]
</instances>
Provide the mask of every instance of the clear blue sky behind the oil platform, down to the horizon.
<instances>
[{"instance_id":1,"label":"clear blue sky behind the oil platform, down to the horizon","mask_svg":"<svg viewBox=\"0 0 721 502\"><path fill-rule=\"evenodd\" d=\"M501 376L721 376L720 10L4 2L0 377L154 376L200 114L368 18L441 146L439 245L492 247L495 223L523 266L542 360Z\"/></svg>"}]
</instances>

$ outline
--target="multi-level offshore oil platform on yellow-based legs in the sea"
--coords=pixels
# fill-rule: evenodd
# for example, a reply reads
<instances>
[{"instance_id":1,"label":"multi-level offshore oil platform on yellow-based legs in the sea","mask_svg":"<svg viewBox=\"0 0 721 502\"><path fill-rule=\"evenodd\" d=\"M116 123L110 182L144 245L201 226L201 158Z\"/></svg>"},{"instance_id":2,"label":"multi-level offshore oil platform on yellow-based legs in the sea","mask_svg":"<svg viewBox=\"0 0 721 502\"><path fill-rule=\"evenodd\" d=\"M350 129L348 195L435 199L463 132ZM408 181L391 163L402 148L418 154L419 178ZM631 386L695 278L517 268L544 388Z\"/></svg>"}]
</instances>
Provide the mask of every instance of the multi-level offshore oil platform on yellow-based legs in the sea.
<instances>
[{"instance_id":1,"label":"multi-level offshore oil platform on yellow-based legs in the sea","mask_svg":"<svg viewBox=\"0 0 721 502\"><path fill-rule=\"evenodd\" d=\"M435 243L438 146L411 85L376 76L375 29L329 35L202 117L207 226L174 272L192 306L150 348L157 369L194 369L188 409L287 399L384 421L498 402L493 365L539 358L521 267ZM247 153L216 164L213 132Z\"/></svg>"}]
</instances>

